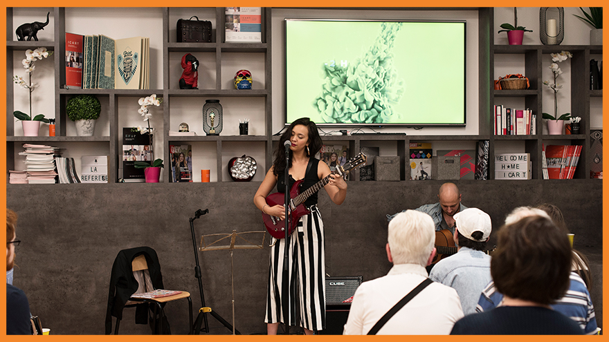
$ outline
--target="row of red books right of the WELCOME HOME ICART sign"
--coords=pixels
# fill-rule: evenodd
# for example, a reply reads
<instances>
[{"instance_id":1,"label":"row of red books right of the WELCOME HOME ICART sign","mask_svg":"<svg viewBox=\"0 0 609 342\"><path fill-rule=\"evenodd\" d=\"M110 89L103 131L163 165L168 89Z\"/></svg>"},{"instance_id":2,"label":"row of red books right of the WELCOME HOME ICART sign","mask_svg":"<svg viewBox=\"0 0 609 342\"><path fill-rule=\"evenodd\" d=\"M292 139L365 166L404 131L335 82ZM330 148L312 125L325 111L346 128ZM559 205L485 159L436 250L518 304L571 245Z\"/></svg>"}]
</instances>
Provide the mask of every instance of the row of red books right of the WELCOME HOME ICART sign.
<instances>
[{"instance_id":1,"label":"row of red books right of the WELCOME HOME ICART sign","mask_svg":"<svg viewBox=\"0 0 609 342\"><path fill-rule=\"evenodd\" d=\"M548 145L545 147L547 162L547 179L570 180L573 179L581 145Z\"/></svg>"}]
</instances>

